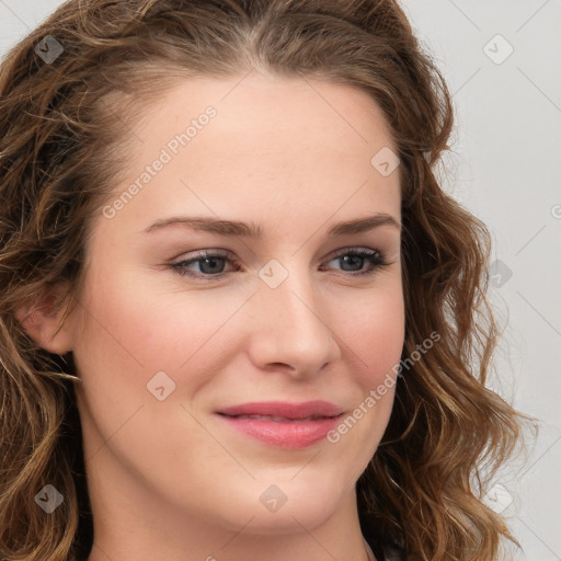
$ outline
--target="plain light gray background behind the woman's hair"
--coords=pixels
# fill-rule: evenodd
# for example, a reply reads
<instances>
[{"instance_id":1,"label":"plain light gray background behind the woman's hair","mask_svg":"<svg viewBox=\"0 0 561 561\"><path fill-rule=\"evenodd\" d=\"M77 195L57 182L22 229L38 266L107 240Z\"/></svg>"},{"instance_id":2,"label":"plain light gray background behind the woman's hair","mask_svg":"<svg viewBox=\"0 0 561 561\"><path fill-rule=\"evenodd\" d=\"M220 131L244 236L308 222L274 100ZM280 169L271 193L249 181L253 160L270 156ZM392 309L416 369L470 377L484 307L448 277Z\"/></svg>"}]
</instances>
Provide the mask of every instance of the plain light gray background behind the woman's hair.
<instances>
[{"instance_id":1,"label":"plain light gray background behind the woman's hair","mask_svg":"<svg viewBox=\"0 0 561 561\"><path fill-rule=\"evenodd\" d=\"M0 56L60 3L0 0ZM516 560L561 560L561 0L402 3L454 94L444 184L493 234L492 383L541 424L488 501L511 517Z\"/></svg>"}]
</instances>

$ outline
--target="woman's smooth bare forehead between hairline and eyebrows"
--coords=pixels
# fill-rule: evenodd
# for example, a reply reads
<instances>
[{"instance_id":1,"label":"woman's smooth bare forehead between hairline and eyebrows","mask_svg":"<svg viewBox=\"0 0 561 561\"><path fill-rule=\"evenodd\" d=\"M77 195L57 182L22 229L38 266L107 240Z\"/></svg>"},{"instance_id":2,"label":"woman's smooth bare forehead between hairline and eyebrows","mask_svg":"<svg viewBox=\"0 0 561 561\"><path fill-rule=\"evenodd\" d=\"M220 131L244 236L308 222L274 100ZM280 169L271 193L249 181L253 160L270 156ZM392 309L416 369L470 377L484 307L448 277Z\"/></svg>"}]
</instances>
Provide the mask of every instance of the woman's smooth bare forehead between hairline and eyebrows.
<instances>
[{"instance_id":1,"label":"woman's smooth bare forehead between hairline and eyebrows","mask_svg":"<svg viewBox=\"0 0 561 561\"><path fill-rule=\"evenodd\" d=\"M243 220L283 209L296 219L305 208L324 221L343 206L399 215L399 170L385 176L371 162L396 151L391 135L356 88L256 73L190 78L146 106L133 133L133 167L115 195L133 182L140 188L119 218L185 209Z\"/></svg>"}]
</instances>

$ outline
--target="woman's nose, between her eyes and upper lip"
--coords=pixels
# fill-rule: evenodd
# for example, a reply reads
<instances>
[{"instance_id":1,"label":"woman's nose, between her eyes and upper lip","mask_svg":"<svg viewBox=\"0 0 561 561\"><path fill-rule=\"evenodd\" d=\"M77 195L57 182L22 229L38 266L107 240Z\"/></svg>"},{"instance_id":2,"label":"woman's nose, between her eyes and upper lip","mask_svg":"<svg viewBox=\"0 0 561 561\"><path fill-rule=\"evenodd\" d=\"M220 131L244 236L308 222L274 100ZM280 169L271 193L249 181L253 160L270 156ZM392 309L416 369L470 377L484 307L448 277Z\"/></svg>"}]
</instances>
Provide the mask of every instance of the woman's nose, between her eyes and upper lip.
<instances>
[{"instance_id":1,"label":"woman's nose, between her eyes and upper lip","mask_svg":"<svg viewBox=\"0 0 561 561\"><path fill-rule=\"evenodd\" d=\"M261 285L251 306L249 354L257 368L308 378L341 357L333 318L305 275Z\"/></svg>"}]
</instances>

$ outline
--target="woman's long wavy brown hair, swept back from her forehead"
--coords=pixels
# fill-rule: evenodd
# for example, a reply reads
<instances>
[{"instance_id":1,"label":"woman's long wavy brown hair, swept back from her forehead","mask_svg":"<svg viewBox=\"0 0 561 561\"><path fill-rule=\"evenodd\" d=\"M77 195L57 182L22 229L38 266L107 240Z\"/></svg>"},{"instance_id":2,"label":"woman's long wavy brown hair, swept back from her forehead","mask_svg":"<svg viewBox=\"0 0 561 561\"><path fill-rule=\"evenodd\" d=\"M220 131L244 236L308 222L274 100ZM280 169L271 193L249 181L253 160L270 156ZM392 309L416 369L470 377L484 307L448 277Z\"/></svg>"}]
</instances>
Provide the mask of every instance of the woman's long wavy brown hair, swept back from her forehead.
<instances>
[{"instance_id":1,"label":"woman's long wavy brown hair, swept back from her forehead","mask_svg":"<svg viewBox=\"0 0 561 561\"><path fill-rule=\"evenodd\" d=\"M365 536L423 561L491 561L502 537L514 540L482 501L527 419L485 387L497 341L490 234L437 182L450 95L397 2L70 0L0 69L2 560L82 560L93 539L71 354L38 347L16 310L61 280L70 291L56 304L76 305L92 220L126 169L137 110L190 76L253 68L368 92L399 150L402 357L430 333L439 340L399 378L357 483ZM47 483L65 500L45 516L33 497Z\"/></svg>"}]
</instances>

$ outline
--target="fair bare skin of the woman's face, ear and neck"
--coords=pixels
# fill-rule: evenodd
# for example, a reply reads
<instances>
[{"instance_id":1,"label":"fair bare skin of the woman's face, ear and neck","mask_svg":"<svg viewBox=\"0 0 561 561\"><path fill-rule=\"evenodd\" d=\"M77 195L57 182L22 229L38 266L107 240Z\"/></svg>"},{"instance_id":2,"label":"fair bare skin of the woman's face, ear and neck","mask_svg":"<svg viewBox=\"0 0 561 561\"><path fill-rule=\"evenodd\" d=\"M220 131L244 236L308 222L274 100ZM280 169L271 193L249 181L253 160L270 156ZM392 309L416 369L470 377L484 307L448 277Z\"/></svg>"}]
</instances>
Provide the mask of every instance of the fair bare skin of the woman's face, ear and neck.
<instances>
[{"instance_id":1,"label":"fair bare skin of the woman's face, ear and neck","mask_svg":"<svg viewBox=\"0 0 561 561\"><path fill-rule=\"evenodd\" d=\"M327 234L377 213L400 221L399 169L382 176L370 164L393 141L365 92L241 78L190 79L142 112L115 197L205 107L217 115L113 218L96 218L80 305L64 328L53 336L57 317L41 309L25 320L44 347L72 351L81 378L90 561L367 559L354 488L393 388L337 443L296 450L234 432L214 412L322 399L350 413L399 363L399 229ZM144 231L175 215L254 222L263 237ZM344 248L380 251L389 264L357 276L333 255ZM219 279L170 266L203 249L236 263L219 262ZM259 276L272 259L288 273L276 288ZM204 275L201 266L187 270ZM175 383L163 401L147 390L161 370ZM260 501L273 484L287 497L276 512Z\"/></svg>"}]
</instances>

